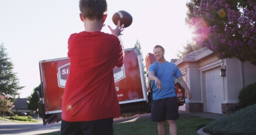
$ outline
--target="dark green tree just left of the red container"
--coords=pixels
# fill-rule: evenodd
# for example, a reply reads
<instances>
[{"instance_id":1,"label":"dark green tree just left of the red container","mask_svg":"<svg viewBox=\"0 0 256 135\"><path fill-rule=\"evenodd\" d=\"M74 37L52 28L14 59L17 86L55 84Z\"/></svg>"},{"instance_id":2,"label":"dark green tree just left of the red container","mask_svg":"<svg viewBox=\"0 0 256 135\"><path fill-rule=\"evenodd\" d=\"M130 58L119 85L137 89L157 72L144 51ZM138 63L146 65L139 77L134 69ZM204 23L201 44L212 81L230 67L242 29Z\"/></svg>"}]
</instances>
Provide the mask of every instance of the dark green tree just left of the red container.
<instances>
[{"instance_id":1,"label":"dark green tree just left of the red container","mask_svg":"<svg viewBox=\"0 0 256 135\"><path fill-rule=\"evenodd\" d=\"M37 100L37 91L39 91L41 84L34 88L32 94L28 97L29 98L29 103L28 103L28 109L29 110L37 110L38 109L38 100Z\"/></svg>"}]
</instances>

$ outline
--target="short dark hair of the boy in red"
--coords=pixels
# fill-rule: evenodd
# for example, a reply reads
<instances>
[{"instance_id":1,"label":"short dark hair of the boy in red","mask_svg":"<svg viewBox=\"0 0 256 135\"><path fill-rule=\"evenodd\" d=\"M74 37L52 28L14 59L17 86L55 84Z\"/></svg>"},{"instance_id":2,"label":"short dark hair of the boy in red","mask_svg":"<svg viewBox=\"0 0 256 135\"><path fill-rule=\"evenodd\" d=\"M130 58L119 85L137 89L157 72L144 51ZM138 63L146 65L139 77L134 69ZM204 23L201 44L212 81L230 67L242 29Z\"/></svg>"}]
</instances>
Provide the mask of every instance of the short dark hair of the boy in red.
<instances>
[{"instance_id":1,"label":"short dark hair of the boy in red","mask_svg":"<svg viewBox=\"0 0 256 135\"><path fill-rule=\"evenodd\" d=\"M105 0L80 0L80 12L83 18L90 20L101 19L107 12L107 1Z\"/></svg>"}]
</instances>

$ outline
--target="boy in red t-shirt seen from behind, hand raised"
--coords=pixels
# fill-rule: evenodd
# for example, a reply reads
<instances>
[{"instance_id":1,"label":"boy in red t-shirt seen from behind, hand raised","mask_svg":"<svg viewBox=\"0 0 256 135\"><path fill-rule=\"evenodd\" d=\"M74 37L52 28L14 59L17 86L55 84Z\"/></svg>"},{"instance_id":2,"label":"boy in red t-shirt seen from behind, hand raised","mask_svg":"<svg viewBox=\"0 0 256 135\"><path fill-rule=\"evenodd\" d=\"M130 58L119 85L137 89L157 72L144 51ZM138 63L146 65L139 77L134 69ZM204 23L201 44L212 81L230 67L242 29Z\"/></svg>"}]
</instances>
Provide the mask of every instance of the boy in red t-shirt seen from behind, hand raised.
<instances>
[{"instance_id":1,"label":"boy in red t-shirt seen from behind, hand raised","mask_svg":"<svg viewBox=\"0 0 256 135\"><path fill-rule=\"evenodd\" d=\"M121 67L124 51L118 22L112 34L101 32L107 18L105 0L80 0L84 31L68 41L70 73L62 100L61 134L113 134L113 117L121 116L113 68Z\"/></svg>"}]
</instances>

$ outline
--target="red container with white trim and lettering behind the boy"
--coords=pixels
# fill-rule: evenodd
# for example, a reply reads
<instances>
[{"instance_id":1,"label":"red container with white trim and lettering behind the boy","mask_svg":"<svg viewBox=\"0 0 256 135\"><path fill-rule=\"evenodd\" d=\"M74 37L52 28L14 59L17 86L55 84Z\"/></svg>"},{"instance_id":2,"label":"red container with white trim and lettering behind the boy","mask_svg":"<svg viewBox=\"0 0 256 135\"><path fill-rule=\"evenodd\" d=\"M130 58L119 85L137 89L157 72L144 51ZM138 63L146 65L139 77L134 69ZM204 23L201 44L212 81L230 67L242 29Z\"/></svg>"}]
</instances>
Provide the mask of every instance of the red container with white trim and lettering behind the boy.
<instances>
[{"instance_id":1,"label":"red container with white trim and lettering behind the boy","mask_svg":"<svg viewBox=\"0 0 256 135\"><path fill-rule=\"evenodd\" d=\"M138 49L125 49L124 65L113 69L115 90L123 117L151 112L144 78L144 66ZM39 115L43 124L59 122L62 113L62 96L69 75L69 58L39 61L41 87Z\"/></svg>"}]
</instances>

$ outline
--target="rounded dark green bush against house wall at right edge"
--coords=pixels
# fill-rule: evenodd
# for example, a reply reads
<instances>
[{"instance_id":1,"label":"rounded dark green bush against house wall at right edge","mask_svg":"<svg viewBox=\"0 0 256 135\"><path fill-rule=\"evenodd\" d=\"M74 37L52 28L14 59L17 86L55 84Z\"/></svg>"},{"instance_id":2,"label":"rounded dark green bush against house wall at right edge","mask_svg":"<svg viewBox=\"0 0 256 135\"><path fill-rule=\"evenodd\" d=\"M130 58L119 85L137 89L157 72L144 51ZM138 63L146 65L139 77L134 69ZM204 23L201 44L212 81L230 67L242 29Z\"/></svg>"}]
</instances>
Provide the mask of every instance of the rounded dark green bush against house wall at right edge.
<instances>
[{"instance_id":1,"label":"rounded dark green bush against house wall at right edge","mask_svg":"<svg viewBox=\"0 0 256 135\"><path fill-rule=\"evenodd\" d=\"M239 92L238 99L240 108L256 104L256 82L243 88Z\"/></svg>"}]
</instances>

